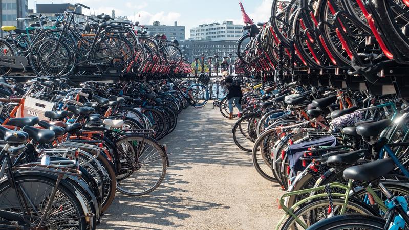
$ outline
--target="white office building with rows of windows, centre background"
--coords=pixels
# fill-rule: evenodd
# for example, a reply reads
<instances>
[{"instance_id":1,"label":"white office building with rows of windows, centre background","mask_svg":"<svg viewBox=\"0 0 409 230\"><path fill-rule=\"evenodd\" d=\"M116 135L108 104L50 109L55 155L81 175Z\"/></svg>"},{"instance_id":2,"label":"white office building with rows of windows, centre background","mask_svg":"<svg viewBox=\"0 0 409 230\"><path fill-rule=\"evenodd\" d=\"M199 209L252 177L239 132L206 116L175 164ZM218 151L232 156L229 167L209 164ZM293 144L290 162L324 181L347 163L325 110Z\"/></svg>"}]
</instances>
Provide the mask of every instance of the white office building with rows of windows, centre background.
<instances>
[{"instance_id":1,"label":"white office building with rows of windows, centre background","mask_svg":"<svg viewBox=\"0 0 409 230\"><path fill-rule=\"evenodd\" d=\"M202 24L190 29L190 39L195 41L237 41L243 35L243 26L232 21Z\"/></svg>"}]
</instances>

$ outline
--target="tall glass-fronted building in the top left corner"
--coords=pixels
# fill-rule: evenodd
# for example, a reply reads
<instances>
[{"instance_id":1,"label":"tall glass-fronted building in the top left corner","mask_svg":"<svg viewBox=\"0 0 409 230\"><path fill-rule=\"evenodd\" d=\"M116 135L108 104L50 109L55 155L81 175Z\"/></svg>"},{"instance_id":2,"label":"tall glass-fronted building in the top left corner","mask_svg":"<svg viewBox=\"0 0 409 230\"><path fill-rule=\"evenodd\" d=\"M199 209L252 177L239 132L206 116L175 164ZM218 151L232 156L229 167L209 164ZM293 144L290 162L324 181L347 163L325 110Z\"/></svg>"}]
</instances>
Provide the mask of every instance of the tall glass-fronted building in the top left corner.
<instances>
[{"instance_id":1,"label":"tall glass-fronted building in the top left corner","mask_svg":"<svg viewBox=\"0 0 409 230\"><path fill-rule=\"evenodd\" d=\"M23 28L23 22L17 22L17 17L25 17L28 12L28 0L0 0L2 9L0 10L1 26L17 26ZM6 33L0 31L0 36Z\"/></svg>"}]
</instances>

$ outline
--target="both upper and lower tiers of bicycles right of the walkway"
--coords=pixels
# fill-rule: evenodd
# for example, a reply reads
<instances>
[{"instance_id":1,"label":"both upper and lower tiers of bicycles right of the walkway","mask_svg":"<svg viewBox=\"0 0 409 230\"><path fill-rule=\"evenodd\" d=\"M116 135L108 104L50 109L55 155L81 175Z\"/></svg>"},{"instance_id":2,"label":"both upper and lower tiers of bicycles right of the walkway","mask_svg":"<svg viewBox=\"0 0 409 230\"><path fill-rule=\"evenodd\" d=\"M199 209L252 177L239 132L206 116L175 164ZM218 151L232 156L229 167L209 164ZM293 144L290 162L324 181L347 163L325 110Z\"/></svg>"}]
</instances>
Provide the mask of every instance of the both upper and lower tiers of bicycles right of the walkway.
<instances>
[{"instance_id":1,"label":"both upper and lower tiers of bicycles right of the walkway","mask_svg":"<svg viewBox=\"0 0 409 230\"><path fill-rule=\"evenodd\" d=\"M288 191L276 229L409 226L407 93L382 78L408 63L407 6L274 0L269 22L255 25L241 5L249 33L236 72L262 81L242 85L232 133L257 172ZM395 91L374 94L379 83Z\"/></svg>"}]
</instances>

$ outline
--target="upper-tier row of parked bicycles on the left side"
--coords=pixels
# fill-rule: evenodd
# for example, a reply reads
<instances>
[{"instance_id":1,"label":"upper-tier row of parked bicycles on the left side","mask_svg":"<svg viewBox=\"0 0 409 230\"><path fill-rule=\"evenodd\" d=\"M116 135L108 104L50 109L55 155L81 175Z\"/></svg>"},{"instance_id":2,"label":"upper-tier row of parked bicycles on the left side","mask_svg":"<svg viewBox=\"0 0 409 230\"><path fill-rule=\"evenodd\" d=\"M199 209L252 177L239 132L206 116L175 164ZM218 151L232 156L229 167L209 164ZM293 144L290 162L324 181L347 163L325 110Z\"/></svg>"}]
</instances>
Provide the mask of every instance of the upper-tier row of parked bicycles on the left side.
<instances>
[{"instance_id":1,"label":"upper-tier row of parked bicycles on the left side","mask_svg":"<svg viewBox=\"0 0 409 230\"><path fill-rule=\"evenodd\" d=\"M50 20L41 14L17 18L25 28L2 26L0 75L29 72L37 76L92 74L190 73L179 43L165 35L148 35L139 22L130 24L110 15L85 16L74 10ZM84 22L76 22L81 15Z\"/></svg>"}]
</instances>

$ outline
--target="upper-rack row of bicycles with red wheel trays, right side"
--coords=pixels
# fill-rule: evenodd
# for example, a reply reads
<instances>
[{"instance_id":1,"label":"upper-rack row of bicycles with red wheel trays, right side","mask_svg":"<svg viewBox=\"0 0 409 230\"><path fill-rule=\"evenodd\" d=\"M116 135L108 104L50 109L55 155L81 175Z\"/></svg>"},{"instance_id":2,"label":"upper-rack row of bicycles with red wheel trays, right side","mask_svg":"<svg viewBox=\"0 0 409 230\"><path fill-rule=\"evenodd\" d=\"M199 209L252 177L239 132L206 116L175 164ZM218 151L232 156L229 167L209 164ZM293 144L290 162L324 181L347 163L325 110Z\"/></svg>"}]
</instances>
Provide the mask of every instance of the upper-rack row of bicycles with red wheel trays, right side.
<instances>
[{"instance_id":1,"label":"upper-rack row of bicycles with red wheel trays, right side","mask_svg":"<svg viewBox=\"0 0 409 230\"><path fill-rule=\"evenodd\" d=\"M391 0L274 0L269 21L254 24L241 5L248 33L238 41L236 72L276 72L282 79L304 71L377 82L384 68L409 63L408 6Z\"/></svg>"}]
</instances>

